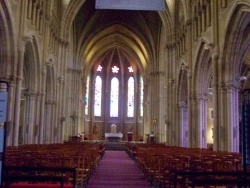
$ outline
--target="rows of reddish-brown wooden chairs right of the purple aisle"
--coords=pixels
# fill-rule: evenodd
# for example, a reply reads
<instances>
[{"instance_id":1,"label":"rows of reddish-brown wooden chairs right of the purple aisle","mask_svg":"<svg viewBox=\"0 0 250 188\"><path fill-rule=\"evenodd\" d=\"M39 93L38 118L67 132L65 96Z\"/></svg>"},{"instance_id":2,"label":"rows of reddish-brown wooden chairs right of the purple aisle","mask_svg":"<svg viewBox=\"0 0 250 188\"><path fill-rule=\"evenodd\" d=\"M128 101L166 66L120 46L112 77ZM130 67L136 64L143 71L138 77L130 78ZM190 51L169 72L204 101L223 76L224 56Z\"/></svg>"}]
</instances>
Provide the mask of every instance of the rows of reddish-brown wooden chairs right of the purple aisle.
<instances>
[{"instance_id":1,"label":"rows of reddish-brown wooden chairs right of the purple aisle","mask_svg":"<svg viewBox=\"0 0 250 188\"><path fill-rule=\"evenodd\" d=\"M243 172L242 158L239 153L156 143L127 143L126 151L135 160L148 181L156 187L175 187L176 182L181 183L183 179L187 181L179 187L193 185L203 187L209 183L213 186L220 186L225 182L238 185L243 181L238 177ZM180 174L176 176L176 172L186 173L186 176L180 177ZM194 178L191 172L200 175ZM227 172L231 173L229 177L217 176L219 173L225 175ZM188 175L188 173L191 174ZM202 176L202 173L213 173L213 176ZM203 181L203 177L208 180ZM185 186L187 182L192 182L192 184Z\"/></svg>"}]
</instances>

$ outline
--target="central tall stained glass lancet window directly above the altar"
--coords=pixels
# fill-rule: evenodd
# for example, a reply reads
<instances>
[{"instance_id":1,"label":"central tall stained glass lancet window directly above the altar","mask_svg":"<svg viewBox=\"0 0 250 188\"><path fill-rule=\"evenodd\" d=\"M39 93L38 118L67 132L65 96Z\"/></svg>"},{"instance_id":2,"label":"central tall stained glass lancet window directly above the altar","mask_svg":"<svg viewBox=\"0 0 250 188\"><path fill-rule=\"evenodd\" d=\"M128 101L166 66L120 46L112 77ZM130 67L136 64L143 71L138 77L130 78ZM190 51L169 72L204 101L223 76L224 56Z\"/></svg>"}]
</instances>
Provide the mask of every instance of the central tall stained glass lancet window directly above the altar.
<instances>
[{"instance_id":1,"label":"central tall stained glass lancet window directly above the altar","mask_svg":"<svg viewBox=\"0 0 250 188\"><path fill-rule=\"evenodd\" d=\"M119 81L117 78L111 80L110 91L110 117L118 117Z\"/></svg>"}]
</instances>

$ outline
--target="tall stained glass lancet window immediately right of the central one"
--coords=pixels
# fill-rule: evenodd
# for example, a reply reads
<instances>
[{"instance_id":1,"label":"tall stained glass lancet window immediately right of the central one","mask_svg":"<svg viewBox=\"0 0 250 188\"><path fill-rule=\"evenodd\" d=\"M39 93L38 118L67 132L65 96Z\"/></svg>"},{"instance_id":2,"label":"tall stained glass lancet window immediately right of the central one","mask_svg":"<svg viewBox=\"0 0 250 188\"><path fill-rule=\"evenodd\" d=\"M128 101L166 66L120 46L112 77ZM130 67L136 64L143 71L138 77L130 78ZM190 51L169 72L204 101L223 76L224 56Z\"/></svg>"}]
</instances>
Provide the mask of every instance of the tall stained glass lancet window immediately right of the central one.
<instances>
[{"instance_id":1,"label":"tall stained glass lancet window immediately right of the central one","mask_svg":"<svg viewBox=\"0 0 250 188\"><path fill-rule=\"evenodd\" d=\"M128 106L127 106L127 116L128 117L134 117L134 89L135 81L133 77L130 77L128 79Z\"/></svg>"}]
</instances>

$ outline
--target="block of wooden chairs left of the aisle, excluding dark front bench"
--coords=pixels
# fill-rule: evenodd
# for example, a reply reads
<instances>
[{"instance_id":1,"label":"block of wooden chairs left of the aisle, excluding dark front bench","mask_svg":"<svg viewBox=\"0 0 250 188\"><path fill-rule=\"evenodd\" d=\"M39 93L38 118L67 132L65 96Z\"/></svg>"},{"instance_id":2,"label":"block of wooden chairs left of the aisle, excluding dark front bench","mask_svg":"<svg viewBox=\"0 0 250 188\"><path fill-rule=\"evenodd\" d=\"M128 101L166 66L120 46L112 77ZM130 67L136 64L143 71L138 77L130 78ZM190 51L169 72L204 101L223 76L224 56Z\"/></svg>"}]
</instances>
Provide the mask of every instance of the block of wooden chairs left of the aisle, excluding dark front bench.
<instances>
[{"instance_id":1,"label":"block of wooden chairs left of the aisle, excluding dark front bench","mask_svg":"<svg viewBox=\"0 0 250 188\"><path fill-rule=\"evenodd\" d=\"M90 175L97 167L104 149L99 143L33 144L8 147L5 166L74 168L75 182L83 186L87 184ZM49 178L49 176L53 177ZM30 177L18 178L21 181ZM62 181L52 172L46 178L57 182ZM45 177L37 177L37 179L45 179Z\"/></svg>"}]
</instances>

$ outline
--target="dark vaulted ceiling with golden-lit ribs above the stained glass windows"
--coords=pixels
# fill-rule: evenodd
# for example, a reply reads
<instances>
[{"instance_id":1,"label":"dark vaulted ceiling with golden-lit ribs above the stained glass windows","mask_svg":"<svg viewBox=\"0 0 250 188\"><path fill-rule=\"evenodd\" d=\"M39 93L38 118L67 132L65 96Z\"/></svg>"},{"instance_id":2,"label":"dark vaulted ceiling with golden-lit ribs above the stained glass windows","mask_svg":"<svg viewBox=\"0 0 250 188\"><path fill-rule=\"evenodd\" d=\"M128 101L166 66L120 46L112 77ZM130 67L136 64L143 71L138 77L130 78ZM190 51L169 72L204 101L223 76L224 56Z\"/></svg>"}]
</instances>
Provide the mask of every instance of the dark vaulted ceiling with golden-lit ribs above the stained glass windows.
<instances>
[{"instance_id":1,"label":"dark vaulted ceiling with golden-lit ribs above the stained glass windows","mask_svg":"<svg viewBox=\"0 0 250 188\"><path fill-rule=\"evenodd\" d=\"M158 49L161 25L157 11L101 10L86 0L74 20L77 54L89 64L116 49L146 68Z\"/></svg>"}]
</instances>

